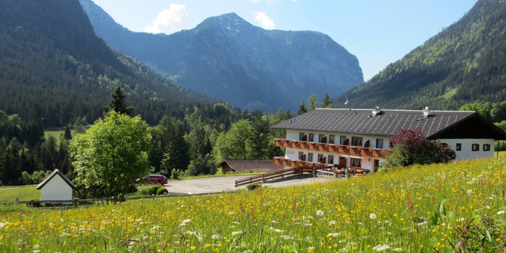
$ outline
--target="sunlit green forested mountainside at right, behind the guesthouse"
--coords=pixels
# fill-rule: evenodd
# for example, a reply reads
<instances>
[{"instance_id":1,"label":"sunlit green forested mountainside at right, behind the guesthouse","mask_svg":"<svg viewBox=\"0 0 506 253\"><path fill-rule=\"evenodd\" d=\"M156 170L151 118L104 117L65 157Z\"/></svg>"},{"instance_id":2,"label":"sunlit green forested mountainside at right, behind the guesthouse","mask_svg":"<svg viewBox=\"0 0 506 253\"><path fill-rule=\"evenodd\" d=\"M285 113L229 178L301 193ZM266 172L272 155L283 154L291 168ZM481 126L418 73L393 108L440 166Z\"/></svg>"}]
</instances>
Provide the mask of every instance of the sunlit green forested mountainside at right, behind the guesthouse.
<instances>
[{"instance_id":1,"label":"sunlit green forested mountainside at right, behind the guesthouse","mask_svg":"<svg viewBox=\"0 0 506 253\"><path fill-rule=\"evenodd\" d=\"M458 22L336 101L348 107L458 109L506 100L506 2L480 0Z\"/></svg>"}]
</instances>

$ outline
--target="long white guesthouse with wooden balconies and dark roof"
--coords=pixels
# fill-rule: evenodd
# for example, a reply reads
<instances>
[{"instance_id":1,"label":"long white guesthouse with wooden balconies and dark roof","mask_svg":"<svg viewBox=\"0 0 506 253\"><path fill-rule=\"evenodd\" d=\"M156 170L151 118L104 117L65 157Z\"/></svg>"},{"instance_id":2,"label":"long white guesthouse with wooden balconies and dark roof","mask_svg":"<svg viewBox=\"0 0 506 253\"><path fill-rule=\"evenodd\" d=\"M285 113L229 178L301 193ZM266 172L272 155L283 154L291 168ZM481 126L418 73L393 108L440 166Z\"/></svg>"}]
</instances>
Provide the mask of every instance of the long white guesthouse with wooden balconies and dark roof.
<instances>
[{"instance_id":1,"label":"long white guesthouse with wooden balconies and dark roof","mask_svg":"<svg viewBox=\"0 0 506 253\"><path fill-rule=\"evenodd\" d=\"M429 140L455 150L456 159L493 157L494 141L506 133L474 111L314 109L272 126L286 130L285 148L274 164L335 166L376 172L390 137L399 129L420 128Z\"/></svg>"}]
</instances>

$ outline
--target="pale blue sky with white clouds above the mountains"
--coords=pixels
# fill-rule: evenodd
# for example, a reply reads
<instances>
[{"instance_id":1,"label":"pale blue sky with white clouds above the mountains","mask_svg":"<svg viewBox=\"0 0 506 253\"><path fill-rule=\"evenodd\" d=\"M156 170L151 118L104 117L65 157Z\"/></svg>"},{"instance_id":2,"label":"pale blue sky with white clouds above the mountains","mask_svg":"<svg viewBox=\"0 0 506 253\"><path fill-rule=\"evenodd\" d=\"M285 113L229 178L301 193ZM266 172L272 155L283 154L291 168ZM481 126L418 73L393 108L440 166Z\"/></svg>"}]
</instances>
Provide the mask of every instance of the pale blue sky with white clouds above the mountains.
<instances>
[{"instance_id":1,"label":"pale blue sky with white clouds above the mountains","mask_svg":"<svg viewBox=\"0 0 506 253\"><path fill-rule=\"evenodd\" d=\"M476 0L93 0L132 31L173 33L235 12L265 29L323 32L355 55L364 80L458 21Z\"/></svg>"}]
</instances>

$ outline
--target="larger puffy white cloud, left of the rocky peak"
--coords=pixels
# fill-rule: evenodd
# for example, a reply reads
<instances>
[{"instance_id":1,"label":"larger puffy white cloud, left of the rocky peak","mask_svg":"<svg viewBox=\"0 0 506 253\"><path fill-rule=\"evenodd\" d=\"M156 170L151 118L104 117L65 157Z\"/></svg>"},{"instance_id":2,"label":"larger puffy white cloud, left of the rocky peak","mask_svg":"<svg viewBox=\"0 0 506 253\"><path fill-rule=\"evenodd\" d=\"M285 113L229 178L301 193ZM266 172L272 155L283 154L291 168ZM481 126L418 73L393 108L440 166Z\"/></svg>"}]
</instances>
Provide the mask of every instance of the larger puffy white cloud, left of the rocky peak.
<instances>
[{"instance_id":1,"label":"larger puffy white cloud, left of the rocky peak","mask_svg":"<svg viewBox=\"0 0 506 253\"><path fill-rule=\"evenodd\" d=\"M174 33L188 28L190 15L186 12L186 6L170 4L167 10L158 13L152 25L144 27L144 32L149 33Z\"/></svg>"}]
</instances>

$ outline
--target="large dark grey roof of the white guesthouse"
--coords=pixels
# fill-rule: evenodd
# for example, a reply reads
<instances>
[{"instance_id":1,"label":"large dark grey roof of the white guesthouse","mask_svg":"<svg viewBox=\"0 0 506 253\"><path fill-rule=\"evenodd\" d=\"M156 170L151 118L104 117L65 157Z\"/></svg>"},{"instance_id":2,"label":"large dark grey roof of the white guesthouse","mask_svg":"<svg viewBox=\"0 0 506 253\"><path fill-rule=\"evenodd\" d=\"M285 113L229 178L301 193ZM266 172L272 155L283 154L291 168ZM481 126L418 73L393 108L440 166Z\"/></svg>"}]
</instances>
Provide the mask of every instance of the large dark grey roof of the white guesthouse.
<instances>
[{"instance_id":1,"label":"large dark grey roof of the white guesthouse","mask_svg":"<svg viewBox=\"0 0 506 253\"><path fill-rule=\"evenodd\" d=\"M372 116L372 109L314 109L272 126L276 129L360 134L390 137L399 129L420 128L428 139L469 119L484 122L496 140L505 140L506 133L474 111L431 111L423 117L422 110L381 110ZM491 137L491 138L492 138Z\"/></svg>"}]
</instances>

